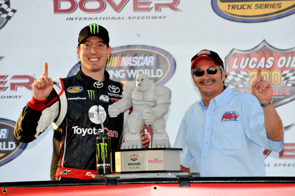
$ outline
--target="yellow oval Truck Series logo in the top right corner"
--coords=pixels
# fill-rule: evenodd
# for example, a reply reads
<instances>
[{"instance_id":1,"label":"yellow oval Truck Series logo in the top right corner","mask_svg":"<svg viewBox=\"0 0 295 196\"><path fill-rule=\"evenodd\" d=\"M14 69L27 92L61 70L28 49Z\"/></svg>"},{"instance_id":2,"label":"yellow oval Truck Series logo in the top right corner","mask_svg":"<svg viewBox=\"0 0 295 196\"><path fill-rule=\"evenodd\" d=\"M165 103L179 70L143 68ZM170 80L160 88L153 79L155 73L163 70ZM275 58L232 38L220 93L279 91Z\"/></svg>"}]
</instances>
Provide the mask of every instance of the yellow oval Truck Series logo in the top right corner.
<instances>
[{"instance_id":1,"label":"yellow oval Truck Series logo in the top right corner","mask_svg":"<svg viewBox=\"0 0 295 196\"><path fill-rule=\"evenodd\" d=\"M230 21L256 23L295 13L295 0L211 0L217 15Z\"/></svg>"}]
</instances>

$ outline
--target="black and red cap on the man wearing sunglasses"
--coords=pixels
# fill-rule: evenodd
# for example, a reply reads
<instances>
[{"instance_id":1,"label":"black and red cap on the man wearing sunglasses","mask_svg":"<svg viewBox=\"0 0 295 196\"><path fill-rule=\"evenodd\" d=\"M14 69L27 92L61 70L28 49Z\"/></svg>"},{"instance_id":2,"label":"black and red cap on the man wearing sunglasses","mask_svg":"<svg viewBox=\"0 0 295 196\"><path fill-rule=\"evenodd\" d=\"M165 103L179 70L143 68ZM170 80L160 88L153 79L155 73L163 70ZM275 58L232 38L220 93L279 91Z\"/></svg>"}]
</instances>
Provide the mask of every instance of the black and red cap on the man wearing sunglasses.
<instances>
[{"instance_id":1,"label":"black and red cap on the man wearing sunglasses","mask_svg":"<svg viewBox=\"0 0 295 196\"><path fill-rule=\"evenodd\" d=\"M210 59L213 60L217 65L221 65L222 68L224 69L223 61L221 58L218 56L217 53L209 50L201 50L197 55L192 57L192 64L191 64L191 70L194 68L196 62L201 59Z\"/></svg>"}]
</instances>

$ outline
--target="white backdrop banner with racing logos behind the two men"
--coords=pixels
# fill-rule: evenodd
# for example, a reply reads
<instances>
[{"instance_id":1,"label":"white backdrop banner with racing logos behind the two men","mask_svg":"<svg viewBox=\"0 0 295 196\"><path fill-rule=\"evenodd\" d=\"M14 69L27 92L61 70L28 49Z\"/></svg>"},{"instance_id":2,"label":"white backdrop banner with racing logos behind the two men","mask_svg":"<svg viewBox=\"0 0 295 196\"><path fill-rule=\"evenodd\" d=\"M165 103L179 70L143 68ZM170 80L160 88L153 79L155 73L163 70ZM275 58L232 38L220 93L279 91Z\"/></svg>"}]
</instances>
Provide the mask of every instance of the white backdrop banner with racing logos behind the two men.
<instances>
[{"instance_id":1,"label":"white backdrop banner with racing logos behind the two men","mask_svg":"<svg viewBox=\"0 0 295 196\"><path fill-rule=\"evenodd\" d=\"M0 0L0 182L50 180L53 127L30 143L17 141L13 129L44 62L52 79L76 73L78 34L93 23L109 31L111 79L145 73L171 89L172 145L183 114L200 99L192 56L217 52L235 92L251 93L262 66L285 128L283 150L264 151L266 175L295 176L294 13L295 0Z\"/></svg>"}]
</instances>

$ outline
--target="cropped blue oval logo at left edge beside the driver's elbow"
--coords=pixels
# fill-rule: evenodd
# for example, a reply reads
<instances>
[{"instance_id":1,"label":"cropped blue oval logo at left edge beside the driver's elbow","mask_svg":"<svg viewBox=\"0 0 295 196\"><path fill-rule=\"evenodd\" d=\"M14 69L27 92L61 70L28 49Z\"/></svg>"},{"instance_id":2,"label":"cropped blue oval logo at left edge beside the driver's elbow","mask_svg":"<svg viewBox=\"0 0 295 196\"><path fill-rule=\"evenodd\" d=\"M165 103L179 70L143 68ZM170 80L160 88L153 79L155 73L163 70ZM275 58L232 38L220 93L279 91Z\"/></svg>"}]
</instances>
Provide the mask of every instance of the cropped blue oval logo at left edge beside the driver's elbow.
<instances>
[{"instance_id":1,"label":"cropped blue oval logo at left edge beside the driver's elbow","mask_svg":"<svg viewBox=\"0 0 295 196\"><path fill-rule=\"evenodd\" d=\"M0 166L19 156L28 145L16 140L14 126L14 121L0 118Z\"/></svg>"}]
</instances>

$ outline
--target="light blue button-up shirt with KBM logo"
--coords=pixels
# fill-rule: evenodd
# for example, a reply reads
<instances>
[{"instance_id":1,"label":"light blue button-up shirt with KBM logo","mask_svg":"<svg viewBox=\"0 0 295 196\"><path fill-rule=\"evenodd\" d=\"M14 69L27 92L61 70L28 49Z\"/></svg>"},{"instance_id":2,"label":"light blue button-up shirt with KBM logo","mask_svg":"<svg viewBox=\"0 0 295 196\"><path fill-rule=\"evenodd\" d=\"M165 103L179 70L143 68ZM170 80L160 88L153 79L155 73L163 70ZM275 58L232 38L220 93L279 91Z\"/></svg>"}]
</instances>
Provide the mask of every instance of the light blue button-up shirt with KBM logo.
<instances>
[{"instance_id":1,"label":"light blue button-up shirt with KBM logo","mask_svg":"<svg viewBox=\"0 0 295 196\"><path fill-rule=\"evenodd\" d=\"M265 176L264 148L279 152L284 141L267 139L258 99L227 87L191 105L181 121L174 147L180 164L200 176Z\"/></svg>"}]
</instances>

